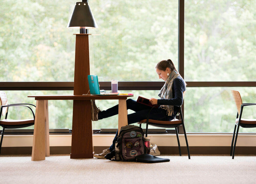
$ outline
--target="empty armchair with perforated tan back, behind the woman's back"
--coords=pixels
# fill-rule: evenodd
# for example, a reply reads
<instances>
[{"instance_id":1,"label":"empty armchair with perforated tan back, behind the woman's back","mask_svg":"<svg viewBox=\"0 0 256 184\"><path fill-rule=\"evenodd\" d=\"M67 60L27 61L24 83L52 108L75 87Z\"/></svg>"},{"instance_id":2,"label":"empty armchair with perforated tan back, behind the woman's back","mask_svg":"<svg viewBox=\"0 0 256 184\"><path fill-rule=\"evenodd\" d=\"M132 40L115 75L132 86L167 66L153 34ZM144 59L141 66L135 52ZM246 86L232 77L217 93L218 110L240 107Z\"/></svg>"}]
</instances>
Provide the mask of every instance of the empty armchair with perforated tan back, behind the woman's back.
<instances>
[{"instance_id":1,"label":"empty armchair with perforated tan back, behind the woman's back","mask_svg":"<svg viewBox=\"0 0 256 184\"><path fill-rule=\"evenodd\" d=\"M241 98L239 91L231 90L231 93L233 95L234 101L237 106L237 118L236 118L234 133L233 133L233 137L232 137L231 149L230 149L230 156L232 156L232 159L234 159L239 127L240 126L243 128L256 127L256 119L242 119L241 118L242 112L243 112L243 107L250 106L250 105L256 105L256 103L242 103L242 98ZM238 116L239 116L239 118L238 118ZM237 133L236 133L236 127L237 127ZM236 138L235 138L235 142L234 142L235 133L236 133ZM234 146L233 146L233 143L234 143Z\"/></svg>"}]
</instances>

